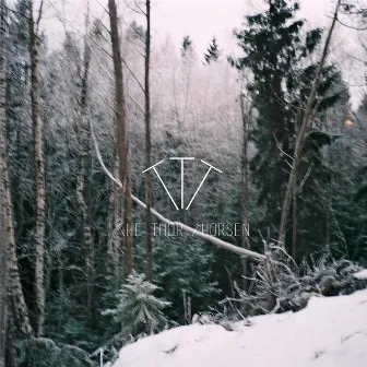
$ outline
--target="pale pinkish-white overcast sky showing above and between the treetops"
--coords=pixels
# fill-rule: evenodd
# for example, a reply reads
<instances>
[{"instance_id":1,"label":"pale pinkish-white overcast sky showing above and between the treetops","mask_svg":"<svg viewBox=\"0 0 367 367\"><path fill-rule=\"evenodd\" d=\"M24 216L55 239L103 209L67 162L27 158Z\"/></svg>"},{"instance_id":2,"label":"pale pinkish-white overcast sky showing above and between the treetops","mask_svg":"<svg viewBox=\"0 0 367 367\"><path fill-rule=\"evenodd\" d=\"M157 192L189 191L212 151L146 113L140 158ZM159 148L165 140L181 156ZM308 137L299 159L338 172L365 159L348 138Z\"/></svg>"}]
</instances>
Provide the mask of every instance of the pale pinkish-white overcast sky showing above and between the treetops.
<instances>
[{"instance_id":1,"label":"pale pinkish-white overcast sky showing above and between the treetops","mask_svg":"<svg viewBox=\"0 0 367 367\"><path fill-rule=\"evenodd\" d=\"M117 0L122 17L130 21L137 14L129 10L126 2ZM293 0L288 0L293 1ZM359 0L366 2L367 0ZM46 0L43 26L49 35L49 44L57 47L63 35L59 17L68 19L69 29L83 31L83 12L86 0ZM90 0L92 14L108 24L106 13L107 0ZM299 15L305 17L307 27L328 26L335 0L300 0ZM199 56L205 51L211 38L215 36L225 54L237 49L232 36L233 29L239 27L245 14L267 9L263 0L152 0L153 43L163 43L167 35L180 46L185 35L190 35ZM143 23L141 17L138 22ZM333 59L343 69L345 79L353 91L353 104L356 105L364 94L364 66L355 58L362 57L358 37L360 33L339 26L338 43L333 44ZM355 76L356 75L356 76Z\"/></svg>"}]
</instances>

